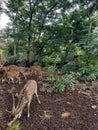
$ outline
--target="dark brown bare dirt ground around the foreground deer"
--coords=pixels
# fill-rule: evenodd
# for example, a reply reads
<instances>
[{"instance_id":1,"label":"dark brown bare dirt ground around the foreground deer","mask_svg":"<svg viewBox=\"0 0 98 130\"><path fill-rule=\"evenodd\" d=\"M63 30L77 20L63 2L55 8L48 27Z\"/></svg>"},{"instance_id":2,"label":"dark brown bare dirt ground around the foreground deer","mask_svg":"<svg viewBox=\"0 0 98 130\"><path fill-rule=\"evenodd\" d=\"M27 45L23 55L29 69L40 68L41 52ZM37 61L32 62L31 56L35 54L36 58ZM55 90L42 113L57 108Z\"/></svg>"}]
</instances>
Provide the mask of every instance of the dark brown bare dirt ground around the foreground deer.
<instances>
[{"instance_id":1,"label":"dark brown bare dirt ground around the foreground deer","mask_svg":"<svg viewBox=\"0 0 98 130\"><path fill-rule=\"evenodd\" d=\"M35 79L30 77L28 79ZM12 97L8 89L12 86L19 92L26 83L1 84L0 86L0 130L7 129L7 123L12 120L7 110L11 110ZM41 84L38 84L41 87ZM39 89L38 89L39 90ZM98 102L93 96L86 96L78 91L44 93L38 91L41 104L36 96L30 107L30 118L27 118L27 108L18 121L22 130L98 130ZM17 99L16 99L17 100Z\"/></svg>"}]
</instances>

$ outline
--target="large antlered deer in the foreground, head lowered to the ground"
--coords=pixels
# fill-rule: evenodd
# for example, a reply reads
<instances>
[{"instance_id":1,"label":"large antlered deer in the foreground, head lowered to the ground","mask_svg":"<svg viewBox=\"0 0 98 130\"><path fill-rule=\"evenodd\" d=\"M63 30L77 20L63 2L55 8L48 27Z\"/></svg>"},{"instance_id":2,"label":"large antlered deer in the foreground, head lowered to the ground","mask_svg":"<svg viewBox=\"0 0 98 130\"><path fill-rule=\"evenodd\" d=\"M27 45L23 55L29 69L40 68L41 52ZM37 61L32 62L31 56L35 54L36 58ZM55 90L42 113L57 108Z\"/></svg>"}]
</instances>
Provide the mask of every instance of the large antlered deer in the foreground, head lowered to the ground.
<instances>
[{"instance_id":1,"label":"large antlered deer in the foreground, head lowered to the ground","mask_svg":"<svg viewBox=\"0 0 98 130\"><path fill-rule=\"evenodd\" d=\"M17 118L21 117L23 109L26 105L28 107L28 118L30 117L29 109L30 109L31 100L32 100L32 97L34 94L36 94L36 97L40 104L40 100L39 100L39 97L37 94L37 82L35 80L29 80L25 84L23 89L20 91L19 98L18 98L18 104L15 108L15 99L14 99L14 94L12 92L13 107L12 107L12 111L10 113L14 118L12 121L10 121L8 123L8 126L10 126L12 123L14 123Z\"/></svg>"}]
</instances>

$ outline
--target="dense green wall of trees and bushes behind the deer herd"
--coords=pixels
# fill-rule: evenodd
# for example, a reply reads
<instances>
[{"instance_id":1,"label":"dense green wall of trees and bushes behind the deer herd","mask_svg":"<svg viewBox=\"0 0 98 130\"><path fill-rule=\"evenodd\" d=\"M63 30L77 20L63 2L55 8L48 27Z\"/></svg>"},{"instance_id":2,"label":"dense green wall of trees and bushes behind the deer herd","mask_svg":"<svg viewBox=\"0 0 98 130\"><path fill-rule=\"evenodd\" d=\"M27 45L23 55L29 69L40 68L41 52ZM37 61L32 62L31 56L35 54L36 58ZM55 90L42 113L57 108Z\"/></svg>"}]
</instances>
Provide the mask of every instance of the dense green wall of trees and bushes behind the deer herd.
<instances>
[{"instance_id":1,"label":"dense green wall of trees and bushes behind the deer herd","mask_svg":"<svg viewBox=\"0 0 98 130\"><path fill-rule=\"evenodd\" d=\"M6 0L8 64L98 77L97 0ZM2 47L0 47L2 50ZM1 52L1 51L0 51Z\"/></svg>"}]
</instances>

